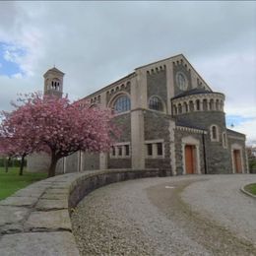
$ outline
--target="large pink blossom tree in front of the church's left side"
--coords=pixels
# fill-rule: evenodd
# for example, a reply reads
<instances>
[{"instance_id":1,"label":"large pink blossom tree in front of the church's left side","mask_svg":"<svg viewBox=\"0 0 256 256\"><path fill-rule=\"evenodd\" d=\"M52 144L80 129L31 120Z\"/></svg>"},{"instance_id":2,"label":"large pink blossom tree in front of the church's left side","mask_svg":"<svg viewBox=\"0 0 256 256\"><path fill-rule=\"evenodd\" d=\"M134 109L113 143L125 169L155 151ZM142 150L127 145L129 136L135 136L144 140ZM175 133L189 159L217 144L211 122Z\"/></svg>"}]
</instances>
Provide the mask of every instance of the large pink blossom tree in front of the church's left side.
<instances>
[{"instance_id":1,"label":"large pink blossom tree in front of the church's left side","mask_svg":"<svg viewBox=\"0 0 256 256\"><path fill-rule=\"evenodd\" d=\"M5 115L0 135L17 140L19 152L44 151L51 156L48 176L55 175L57 161L78 151L105 152L117 129L108 109L90 107L67 97L37 93L20 99L23 104ZM4 127L4 129L3 129ZM21 147L21 148L20 148Z\"/></svg>"}]
</instances>

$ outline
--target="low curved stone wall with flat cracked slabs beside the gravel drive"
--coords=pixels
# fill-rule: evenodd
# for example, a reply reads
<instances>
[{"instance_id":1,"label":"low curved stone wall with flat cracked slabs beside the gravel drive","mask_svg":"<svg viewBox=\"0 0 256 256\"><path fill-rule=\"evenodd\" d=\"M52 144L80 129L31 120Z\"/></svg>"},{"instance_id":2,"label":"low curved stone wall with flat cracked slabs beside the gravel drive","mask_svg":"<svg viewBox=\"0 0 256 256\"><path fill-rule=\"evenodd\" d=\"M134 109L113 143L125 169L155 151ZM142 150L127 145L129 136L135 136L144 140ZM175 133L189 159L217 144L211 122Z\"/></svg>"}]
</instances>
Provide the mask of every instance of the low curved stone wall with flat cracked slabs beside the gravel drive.
<instances>
[{"instance_id":1,"label":"low curved stone wall with flat cracked slabs beside the gravel drive","mask_svg":"<svg viewBox=\"0 0 256 256\"><path fill-rule=\"evenodd\" d=\"M79 255L70 212L81 199L109 183L169 174L159 169L95 170L33 183L0 201L0 255Z\"/></svg>"}]
</instances>

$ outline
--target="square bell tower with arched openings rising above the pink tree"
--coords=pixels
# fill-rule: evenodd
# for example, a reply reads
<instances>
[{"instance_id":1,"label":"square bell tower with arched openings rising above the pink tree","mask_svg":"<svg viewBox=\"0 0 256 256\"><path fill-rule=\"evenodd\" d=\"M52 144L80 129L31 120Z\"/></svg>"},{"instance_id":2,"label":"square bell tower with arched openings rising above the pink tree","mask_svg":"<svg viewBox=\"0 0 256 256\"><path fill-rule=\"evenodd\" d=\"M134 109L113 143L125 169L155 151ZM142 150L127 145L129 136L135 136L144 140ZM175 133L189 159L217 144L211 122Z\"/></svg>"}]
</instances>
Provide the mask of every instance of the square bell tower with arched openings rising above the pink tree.
<instances>
[{"instance_id":1,"label":"square bell tower with arched openings rising above the pink tree","mask_svg":"<svg viewBox=\"0 0 256 256\"><path fill-rule=\"evenodd\" d=\"M43 94L48 96L62 97L64 73L53 67L43 75L44 90Z\"/></svg>"}]
</instances>

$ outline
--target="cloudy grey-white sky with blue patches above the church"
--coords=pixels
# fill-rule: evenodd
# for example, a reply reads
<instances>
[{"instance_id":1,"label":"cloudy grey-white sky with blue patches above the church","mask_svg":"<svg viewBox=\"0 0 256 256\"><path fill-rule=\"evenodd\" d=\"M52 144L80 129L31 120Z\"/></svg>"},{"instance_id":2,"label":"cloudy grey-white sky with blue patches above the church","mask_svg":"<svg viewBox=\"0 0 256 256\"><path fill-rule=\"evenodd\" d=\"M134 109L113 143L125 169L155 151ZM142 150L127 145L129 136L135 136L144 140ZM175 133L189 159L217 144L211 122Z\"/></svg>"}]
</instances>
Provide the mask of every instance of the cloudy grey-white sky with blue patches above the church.
<instances>
[{"instance_id":1,"label":"cloudy grey-white sky with blue patches above the church","mask_svg":"<svg viewBox=\"0 0 256 256\"><path fill-rule=\"evenodd\" d=\"M150 62L183 53L214 91L226 123L256 145L256 2L0 2L0 109L66 73L87 96Z\"/></svg>"}]
</instances>

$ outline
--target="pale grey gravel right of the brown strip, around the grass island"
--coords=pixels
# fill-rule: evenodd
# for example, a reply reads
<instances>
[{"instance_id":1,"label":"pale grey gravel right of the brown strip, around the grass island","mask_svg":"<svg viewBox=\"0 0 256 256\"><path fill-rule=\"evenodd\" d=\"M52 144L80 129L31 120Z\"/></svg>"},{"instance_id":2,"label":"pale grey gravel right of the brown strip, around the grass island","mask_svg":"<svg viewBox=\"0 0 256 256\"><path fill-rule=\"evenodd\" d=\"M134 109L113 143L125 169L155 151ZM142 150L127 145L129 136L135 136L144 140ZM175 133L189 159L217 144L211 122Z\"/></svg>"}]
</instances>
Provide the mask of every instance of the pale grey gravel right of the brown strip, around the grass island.
<instances>
[{"instance_id":1,"label":"pale grey gravel right of the brown strip, around the grass island","mask_svg":"<svg viewBox=\"0 0 256 256\"><path fill-rule=\"evenodd\" d=\"M239 191L248 183L256 183L256 175L217 175L185 188L181 197L191 210L206 218L218 220L238 236L256 246L256 199Z\"/></svg>"}]
</instances>

